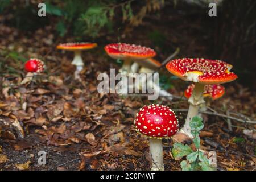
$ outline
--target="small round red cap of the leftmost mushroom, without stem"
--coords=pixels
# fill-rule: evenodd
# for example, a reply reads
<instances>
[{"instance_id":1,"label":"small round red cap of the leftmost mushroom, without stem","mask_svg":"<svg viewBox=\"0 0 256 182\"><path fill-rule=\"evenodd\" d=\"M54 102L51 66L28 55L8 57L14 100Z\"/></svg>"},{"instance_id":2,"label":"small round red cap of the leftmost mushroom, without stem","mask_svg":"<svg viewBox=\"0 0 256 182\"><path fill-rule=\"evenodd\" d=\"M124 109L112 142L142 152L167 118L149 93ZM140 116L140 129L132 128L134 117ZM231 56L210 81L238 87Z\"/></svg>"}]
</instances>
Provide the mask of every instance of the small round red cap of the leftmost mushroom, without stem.
<instances>
[{"instance_id":1,"label":"small round red cap of the leftmost mushroom, without stem","mask_svg":"<svg viewBox=\"0 0 256 182\"><path fill-rule=\"evenodd\" d=\"M44 71L44 62L40 59L31 58L25 63L25 70L32 73L41 73Z\"/></svg>"}]
</instances>

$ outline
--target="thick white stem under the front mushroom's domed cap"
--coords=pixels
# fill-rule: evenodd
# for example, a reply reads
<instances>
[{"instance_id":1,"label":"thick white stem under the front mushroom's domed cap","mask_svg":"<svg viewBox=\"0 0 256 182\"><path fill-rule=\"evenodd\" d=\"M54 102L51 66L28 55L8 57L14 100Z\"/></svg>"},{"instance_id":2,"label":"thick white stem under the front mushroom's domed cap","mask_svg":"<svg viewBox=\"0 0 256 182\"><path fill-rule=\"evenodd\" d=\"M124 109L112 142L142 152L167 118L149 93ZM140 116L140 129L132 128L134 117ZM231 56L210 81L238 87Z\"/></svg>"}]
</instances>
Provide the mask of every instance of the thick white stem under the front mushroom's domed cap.
<instances>
[{"instance_id":1,"label":"thick white stem under the front mushroom's domed cap","mask_svg":"<svg viewBox=\"0 0 256 182\"><path fill-rule=\"evenodd\" d=\"M150 138L151 171L164 171L162 139Z\"/></svg>"}]
</instances>

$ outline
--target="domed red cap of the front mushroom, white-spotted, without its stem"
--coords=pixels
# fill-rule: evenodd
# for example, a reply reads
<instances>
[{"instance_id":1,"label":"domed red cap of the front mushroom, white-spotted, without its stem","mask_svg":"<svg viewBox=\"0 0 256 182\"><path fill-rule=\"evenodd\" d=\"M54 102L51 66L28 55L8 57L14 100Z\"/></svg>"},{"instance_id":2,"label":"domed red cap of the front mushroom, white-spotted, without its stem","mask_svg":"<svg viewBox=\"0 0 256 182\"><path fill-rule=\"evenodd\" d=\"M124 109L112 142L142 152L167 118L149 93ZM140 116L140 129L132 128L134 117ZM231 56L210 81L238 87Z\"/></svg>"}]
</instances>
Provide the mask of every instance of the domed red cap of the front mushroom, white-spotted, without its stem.
<instances>
[{"instance_id":1,"label":"domed red cap of the front mushroom, white-spotted, without its stem","mask_svg":"<svg viewBox=\"0 0 256 182\"><path fill-rule=\"evenodd\" d=\"M164 105L143 106L134 120L137 132L153 138L171 137L179 126L175 113Z\"/></svg>"}]
</instances>

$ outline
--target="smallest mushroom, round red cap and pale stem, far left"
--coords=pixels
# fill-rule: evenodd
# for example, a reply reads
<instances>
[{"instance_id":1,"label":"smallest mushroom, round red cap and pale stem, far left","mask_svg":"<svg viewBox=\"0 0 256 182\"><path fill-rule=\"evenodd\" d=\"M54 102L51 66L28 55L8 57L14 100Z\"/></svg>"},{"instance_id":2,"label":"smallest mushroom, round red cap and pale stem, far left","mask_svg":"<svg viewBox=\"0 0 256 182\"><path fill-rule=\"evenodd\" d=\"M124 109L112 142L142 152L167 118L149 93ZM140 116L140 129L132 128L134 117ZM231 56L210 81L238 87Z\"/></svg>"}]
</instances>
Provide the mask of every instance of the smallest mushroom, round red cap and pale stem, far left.
<instances>
[{"instance_id":1,"label":"smallest mushroom, round red cap and pale stem, far left","mask_svg":"<svg viewBox=\"0 0 256 182\"><path fill-rule=\"evenodd\" d=\"M24 65L24 69L27 71L27 75L20 84L27 84L28 82L31 82L34 75L42 73L44 68L45 66L42 60L36 58L29 59Z\"/></svg>"}]
</instances>

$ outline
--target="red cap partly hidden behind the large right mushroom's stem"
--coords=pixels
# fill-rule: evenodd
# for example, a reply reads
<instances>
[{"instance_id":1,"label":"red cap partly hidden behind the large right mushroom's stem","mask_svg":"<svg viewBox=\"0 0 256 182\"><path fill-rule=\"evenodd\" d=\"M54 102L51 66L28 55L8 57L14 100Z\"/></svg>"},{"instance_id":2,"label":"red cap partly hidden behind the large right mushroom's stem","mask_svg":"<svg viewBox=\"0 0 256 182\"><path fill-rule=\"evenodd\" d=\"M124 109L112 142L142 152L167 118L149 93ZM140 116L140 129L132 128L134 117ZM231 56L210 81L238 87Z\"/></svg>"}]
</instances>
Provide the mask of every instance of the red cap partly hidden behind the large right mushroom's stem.
<instances>
[{"instance_id":1,"label":"red cap partly hidden behind the large right mushroom's stem","mask_svg":"<svg viewBox=\"0 0 256 182\"><path fill-rule=\"evenodd\" d=\"M188 86L188 88L184 92L184 96L186 98L191 97L193 89L195 88L194 84L191 84ZM210 97L213 100L216 100L220 97L222 97L225 93L225 88L224 86L218 84L218 85L205 85L204 87L204 97Z\"/></svg>"}]
</instances>

